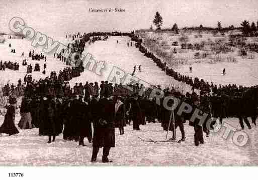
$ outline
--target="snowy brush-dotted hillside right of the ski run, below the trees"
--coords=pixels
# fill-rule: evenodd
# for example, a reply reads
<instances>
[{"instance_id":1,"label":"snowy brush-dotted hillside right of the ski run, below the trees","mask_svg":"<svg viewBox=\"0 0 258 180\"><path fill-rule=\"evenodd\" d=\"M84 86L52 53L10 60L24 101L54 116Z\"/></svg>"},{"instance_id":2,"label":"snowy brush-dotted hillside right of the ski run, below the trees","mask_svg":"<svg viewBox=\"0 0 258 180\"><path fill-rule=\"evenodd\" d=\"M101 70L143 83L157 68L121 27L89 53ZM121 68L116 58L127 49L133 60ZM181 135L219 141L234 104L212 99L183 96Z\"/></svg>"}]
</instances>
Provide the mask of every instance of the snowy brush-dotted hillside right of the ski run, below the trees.
<instances>
[{"instance_id":1,"label":"snowy brush-dotted hillside right of the ski run, below the trees","mask_svg":"<svg viewBox=\"0 0 258 180\"><path fill-rule=\"evenodd\" d=\"M235 32L236 33L236 32ZM237 32L240 33L240 32ZM205 48L207 49L206 53L210 54L207 58L200 58L195 59L194 54L199 52L202 53L202 51L197 50L182 50L181 44L182 42L179 41L179 38L181 36L188 37L188 41L186 43L199 43L205 42L206 44L209 44L208 42L215 43L216 41L220 40L222 42L229 42L229 33L226 33L225 36L216 36L214 37L211 33L183 33L180 35L176 35L171 32L163 32L163 33L156 33L156 32L147 32L142 33L142 37L150 38L155 40L155 45L159 46L160 50L162 52L167 52L168 54L171 54L171 51L174 50L174 48L177 49L177 54L172 53L172 57L167 60L168 65L173 61L176 61L178 59L183 60L184 65L179 65L175 69L177 72L188 75L192 78L198 77L199 79L204 79L204 81L207 82L213 82L214 84L221 84L221 85L228 85L228 84L236 84L236 85L242 85L242 86L252 86L258 84L258 58L257 53L254 52L247 52L247 56L242 58L238 56L238 50L239 48L234 47L233 52L229 53L220 53L218 55L213 55L212 51L209 49L208 45L205 45ZM201 37L195 38L195 36ZM173 46L173 42L179 42L179 46ZM247 38L246 43L257 43L257 38ZM161 46L163 44L163 46ZM145 46L146 47L146 46ZM148 47L149 49L150 47ZM182 52L184 53L182 53ZM221 58L222 62L216 62L211 64L211 59L218 56ZM252 58L250 58L252 56ZM211 58L211 59L210 59ZM234 59L235 62L228 62L227 58ZM189 66L192 66L193 72L189 72ZM222 76L222 70L225 68L226 70L226 76Z\"/></svg>"}]
</instances>

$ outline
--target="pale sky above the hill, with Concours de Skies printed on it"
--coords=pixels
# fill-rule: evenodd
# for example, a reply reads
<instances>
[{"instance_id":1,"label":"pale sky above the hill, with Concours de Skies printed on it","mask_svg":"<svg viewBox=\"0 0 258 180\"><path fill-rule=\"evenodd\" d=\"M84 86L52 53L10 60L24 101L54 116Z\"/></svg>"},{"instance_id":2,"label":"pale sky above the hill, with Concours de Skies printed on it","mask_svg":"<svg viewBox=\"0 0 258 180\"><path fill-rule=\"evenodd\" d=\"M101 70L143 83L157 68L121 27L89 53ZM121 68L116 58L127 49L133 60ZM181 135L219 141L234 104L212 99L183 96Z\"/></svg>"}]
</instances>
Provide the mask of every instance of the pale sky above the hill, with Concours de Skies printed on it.
<instances>
[{"instance_id":1,"label":"pale sky above the hill, with Concours de Skies printed on it","mask_svg":"<svg viewBox=\"0 0 258 180\"><path fill-rule=\"evenodd\" d=\"M124 12L90 12L89 9L123 9ZM148 29L155 12L162 28L203 26L239 27L243 20L258 21L257 0L0 0L0 32L9 32L13 17L49 36L75 32L130 32Z\"/></svg>"}]
</instances>

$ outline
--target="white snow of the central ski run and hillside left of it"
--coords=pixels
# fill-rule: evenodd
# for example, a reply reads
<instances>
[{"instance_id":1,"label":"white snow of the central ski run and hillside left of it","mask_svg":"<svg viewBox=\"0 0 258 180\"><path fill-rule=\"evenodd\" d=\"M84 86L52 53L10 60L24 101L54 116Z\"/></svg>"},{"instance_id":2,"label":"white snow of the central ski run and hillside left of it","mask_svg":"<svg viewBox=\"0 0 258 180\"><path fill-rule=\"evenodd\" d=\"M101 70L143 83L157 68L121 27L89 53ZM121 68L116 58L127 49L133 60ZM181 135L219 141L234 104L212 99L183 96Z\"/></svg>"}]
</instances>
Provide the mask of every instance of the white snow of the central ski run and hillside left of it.
<instances>
[{"instance_id":1,"label":"white snow of the central ski run and hillside left of it","mask_svg":"<svg viewBox=\"0 0 258 180\"><path fill-rule=\"evenodd\" d=\"M34 47L31 46L31 41L21 40L21 39L6 39L5 44L0 44L0 54L1 59L3 61L13 61L20 63L20 70L6 70L5 72L0 72L1 81L7 83L10 80L10 83L17 84L19 78L22 79L26 74L27 66L22 66L21 54L25 52L25 56L28 60L29 51L33 50ZM65 38L58 38L59 42L63 42L67 44L70 42ZM117 44L117 40L119 44ZM125 73L131 74L133 72L133 67L136 66L136 74L135 76L142 80L142 84L148 85L161 85L162 88L170 86L171 84L174 86L179 86L184 88L185 91L189 91L191 88L184 84L175 81L170 76L165 75L163 71L161 71L156 64L151 61L149 58L143 56L142 53L139 52L137 48L135 48L134 43L133 46L127 47L127 43L130 42L129 37L109 37L108 41L97 41L92 45L87 45L83 54L87 55L87 53L91 53L96 62L105 61L105 68L102 70L102 75L99 76L92 71L85 69L83 73L81 73L80 77L73 78L70 81L71 85L75 85L75 83L82 82L85 84L86 81L89 82L101 82L102 80L108 80L110 73L114 66L122 69ZM9 43L11 43L12 48L16 49L16 53L11 53L11 48L8 47ZM38 47L36 49L37 53L42 53L42 47ZM51 71L59 72L59 70L65 68L65 64L60 62L57 59L53 58L53 54L45 54L47 56L46 63L46 74L42 74L44 61L32 61L31 58L28 60L28 64L32 64L34 70L34 64L39 63L41 67L41 72L33 72L32 77L36 80L49 76ZM142 72L138 72L138 66L141 65Z\"/></svg>"}]
</instances>

